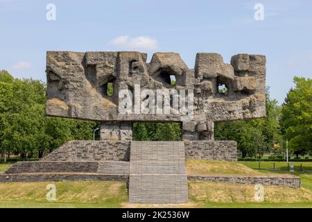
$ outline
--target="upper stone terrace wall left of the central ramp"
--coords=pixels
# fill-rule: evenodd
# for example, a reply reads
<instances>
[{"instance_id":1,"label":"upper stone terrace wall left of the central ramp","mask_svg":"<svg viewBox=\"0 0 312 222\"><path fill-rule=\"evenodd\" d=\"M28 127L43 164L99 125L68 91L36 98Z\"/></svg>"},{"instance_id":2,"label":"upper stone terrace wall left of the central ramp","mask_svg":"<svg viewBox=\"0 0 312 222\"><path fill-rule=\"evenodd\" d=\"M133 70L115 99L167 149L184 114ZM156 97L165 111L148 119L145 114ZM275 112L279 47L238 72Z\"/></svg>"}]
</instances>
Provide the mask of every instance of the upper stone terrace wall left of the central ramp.
<instances>
[{"instance_id":1,"label":"upper stone terrace wall left of the central ramp","mask_svg":"<svg viewBox=\"0 0 312 222\"><path fill-rule=\"evenodd\" d=\"M44 161L129 161L130 142L71 141L44 157Z\"/></svg>"}]
</instances>

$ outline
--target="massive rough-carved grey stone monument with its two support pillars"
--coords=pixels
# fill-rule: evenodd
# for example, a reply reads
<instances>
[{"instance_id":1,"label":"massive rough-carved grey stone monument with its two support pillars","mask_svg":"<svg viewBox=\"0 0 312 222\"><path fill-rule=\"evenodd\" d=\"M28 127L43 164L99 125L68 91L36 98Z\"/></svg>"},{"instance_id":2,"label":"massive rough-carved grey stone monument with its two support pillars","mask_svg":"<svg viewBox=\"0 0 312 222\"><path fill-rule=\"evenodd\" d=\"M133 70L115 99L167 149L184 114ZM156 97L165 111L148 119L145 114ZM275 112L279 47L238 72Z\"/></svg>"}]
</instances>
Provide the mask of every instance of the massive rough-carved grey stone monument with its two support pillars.
<instances>
[{"instance_id":1,"label":"massive rough-carved grey stone monument with its two support pillars","mask_svg":"<svg viewBox=\"0 0 312 222\"><path fill-rule=\"evenodd\" d=\"M155 53L150 63L146 58L146 53L128 51L49 51L46 114L101 121L101 139L113 141L131 141L133 121L179 121L182 139L198 141L214 139L216 121L266 117L265 56L239 54L229 65L216 53L198 53L195 69L177 53ZM112 95L107 94L109 84ZM193 117L187 121L180 113L119 112L119 92L130 90L135 97L136 84L139 90L192 90Z\"/></svg>"}]
</instances>

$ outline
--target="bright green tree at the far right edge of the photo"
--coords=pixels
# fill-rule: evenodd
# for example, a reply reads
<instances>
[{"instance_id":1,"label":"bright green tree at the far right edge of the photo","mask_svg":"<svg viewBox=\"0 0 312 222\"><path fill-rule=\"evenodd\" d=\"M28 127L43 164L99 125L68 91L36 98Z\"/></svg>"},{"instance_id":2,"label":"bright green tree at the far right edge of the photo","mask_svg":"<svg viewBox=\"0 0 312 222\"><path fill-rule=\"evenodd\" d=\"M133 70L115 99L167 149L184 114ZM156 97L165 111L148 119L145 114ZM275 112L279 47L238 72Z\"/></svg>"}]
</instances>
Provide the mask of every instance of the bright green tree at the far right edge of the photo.
<instances>
[{"instance_id":1,"label":"bright green tree at the far right edge of the photo","mask_svg":"<svg viewBox=\"0 0 312 222\"><path fill-rule=\"evenodd\" d=\"M281 110L281 126L288 146L297 155L312 150L312 79L294 79Z\"/></svg>"}]
</instances>

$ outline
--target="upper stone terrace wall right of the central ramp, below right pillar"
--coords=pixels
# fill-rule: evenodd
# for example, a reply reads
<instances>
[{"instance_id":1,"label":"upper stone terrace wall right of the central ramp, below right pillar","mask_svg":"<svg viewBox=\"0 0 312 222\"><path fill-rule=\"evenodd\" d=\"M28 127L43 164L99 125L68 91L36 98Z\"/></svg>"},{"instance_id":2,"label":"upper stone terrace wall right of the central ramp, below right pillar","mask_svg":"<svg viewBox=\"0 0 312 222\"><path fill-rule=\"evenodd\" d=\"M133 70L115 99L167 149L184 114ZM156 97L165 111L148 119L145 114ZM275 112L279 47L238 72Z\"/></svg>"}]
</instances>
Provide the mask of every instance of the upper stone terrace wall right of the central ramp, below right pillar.
<instances>
[{"instance_id":1,"label":"upper stone terrace wall right of the central ramp, below right pillar","mask_svg":"<svg viewBox=\"0 0 312 222\"><path fill-rule=\"evenodd\" d=\"M237 143L235 141L184 141L185 157L192 160L237 161Z\"/></svg>"}]
</instances>

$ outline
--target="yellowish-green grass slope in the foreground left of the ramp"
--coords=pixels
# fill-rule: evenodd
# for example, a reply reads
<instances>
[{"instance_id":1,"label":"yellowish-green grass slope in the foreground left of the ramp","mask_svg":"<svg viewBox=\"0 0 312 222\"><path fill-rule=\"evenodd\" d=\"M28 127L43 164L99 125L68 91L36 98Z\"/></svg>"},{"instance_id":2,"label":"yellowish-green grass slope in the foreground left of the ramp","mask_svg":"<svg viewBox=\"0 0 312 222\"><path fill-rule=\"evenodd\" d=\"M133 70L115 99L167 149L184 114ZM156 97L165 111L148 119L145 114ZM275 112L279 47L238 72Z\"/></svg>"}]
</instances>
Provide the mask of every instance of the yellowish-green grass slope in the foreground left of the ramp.
<instances>
[{"instance_id":1,"label":"yellowish-green grass slope in the foreground left of the ramp","mask_svg":"<svg viewBox=\"0 0 312 222\"><path fill-rule=\"evenodd\" d=\"M56 187L56 200L46 200L46 185ZM125 182L0 183L0 207L121 207L128 200Z\"/></svg>"}]
</instances>

